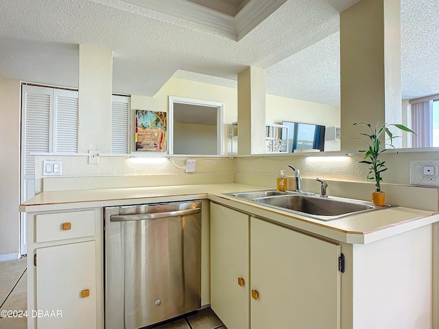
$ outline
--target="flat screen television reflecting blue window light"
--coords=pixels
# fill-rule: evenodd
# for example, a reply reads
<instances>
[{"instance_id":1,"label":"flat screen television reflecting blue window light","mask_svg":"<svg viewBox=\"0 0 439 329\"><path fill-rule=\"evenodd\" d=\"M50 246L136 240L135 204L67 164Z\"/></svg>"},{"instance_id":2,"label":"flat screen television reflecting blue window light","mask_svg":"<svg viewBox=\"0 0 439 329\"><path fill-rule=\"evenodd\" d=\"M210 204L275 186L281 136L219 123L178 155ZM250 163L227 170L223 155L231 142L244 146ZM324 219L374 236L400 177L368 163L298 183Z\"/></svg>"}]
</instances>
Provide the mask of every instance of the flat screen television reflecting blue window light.
<instances>
[{"instance_id":1,"label":"flat screen television reflecting blue window light","mask_svg":"<svg viewBox=\"0 0 439 329\"><path fill-rule=\"evenodd\" d=\"M282 121L282 124L288 126L289 153L293 153L295 149L324 151L324 125L291 121Z\"/></svg>"}]
</instances>

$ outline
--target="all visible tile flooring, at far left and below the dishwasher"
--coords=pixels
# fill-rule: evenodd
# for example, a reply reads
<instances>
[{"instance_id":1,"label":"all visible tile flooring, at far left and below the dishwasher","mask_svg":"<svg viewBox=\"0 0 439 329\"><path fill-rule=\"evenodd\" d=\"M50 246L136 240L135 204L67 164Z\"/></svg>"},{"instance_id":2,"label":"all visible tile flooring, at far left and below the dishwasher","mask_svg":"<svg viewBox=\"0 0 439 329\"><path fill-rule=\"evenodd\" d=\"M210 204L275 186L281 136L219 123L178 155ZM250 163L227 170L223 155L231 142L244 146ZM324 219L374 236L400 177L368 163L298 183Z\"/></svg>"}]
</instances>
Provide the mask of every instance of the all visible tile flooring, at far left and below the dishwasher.
<instances>
[{"instance_id":1,"label":"all visible tile flooring, at far left and below the dishwasher","mask_svg":"<svg viewBox=\"0 0 439 329\"><path fill-rule=\"evenodd\" d=\"M0 262L0 313L1 310L26 310L27 308L27 258ZM0 329L25 329L25 317L1 317ZM152 329L152 328L151 328ZM154 329L227 329L211 308L170 321Z\"/></svg>"}]
</instances>

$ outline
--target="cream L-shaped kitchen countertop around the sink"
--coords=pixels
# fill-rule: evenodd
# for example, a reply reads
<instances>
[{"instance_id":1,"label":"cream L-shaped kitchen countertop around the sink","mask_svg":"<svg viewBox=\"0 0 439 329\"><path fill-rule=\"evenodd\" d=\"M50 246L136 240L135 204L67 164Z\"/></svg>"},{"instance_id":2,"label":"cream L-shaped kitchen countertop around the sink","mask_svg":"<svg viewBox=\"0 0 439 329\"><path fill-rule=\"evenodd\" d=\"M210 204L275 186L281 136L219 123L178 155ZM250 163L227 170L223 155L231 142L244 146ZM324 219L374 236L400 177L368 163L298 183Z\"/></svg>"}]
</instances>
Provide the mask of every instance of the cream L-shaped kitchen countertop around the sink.
<instances>
[{"instance_id":1,"label":"cream L-shaped kitchen countertop around the sink","mask_svg":"<svg viewBox=\"0 0 439 329\"><path fill-rule=\"evenodd\" d=\"M364 212L333 221L320 221L287 211L274 210L261 204L246 202L223 194L266 189L268 188L228 183L43 192L21 204L20 211L80 210L82 208L207 198L213 202L224 204L224 206L248 212L256 217L263 217L296 230L344 243L361 244L385 239L439 221L437 212L403 207Z\"/></svg>"}]
</instances>

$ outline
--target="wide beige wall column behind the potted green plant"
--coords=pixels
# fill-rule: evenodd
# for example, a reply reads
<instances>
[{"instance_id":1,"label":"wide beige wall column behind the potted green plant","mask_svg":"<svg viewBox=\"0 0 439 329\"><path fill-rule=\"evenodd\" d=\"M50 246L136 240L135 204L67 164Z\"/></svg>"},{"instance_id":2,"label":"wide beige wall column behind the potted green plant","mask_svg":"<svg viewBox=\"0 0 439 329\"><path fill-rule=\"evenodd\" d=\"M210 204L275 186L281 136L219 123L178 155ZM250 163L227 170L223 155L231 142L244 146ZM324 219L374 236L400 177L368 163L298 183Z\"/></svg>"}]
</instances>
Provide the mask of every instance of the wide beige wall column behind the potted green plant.
<instances>
[{"instance_id":1,"label":"wide beige wall column behind the potted green plant","mask_svg":"<svg viewBox=\"0 0 439 329\"><path fill-rule=\"evenodd\" d=\"M401 0L362 0L340 13L340 83L342 149L364 148L354 122L402 122Z\"/></svg>"}]
</instances>

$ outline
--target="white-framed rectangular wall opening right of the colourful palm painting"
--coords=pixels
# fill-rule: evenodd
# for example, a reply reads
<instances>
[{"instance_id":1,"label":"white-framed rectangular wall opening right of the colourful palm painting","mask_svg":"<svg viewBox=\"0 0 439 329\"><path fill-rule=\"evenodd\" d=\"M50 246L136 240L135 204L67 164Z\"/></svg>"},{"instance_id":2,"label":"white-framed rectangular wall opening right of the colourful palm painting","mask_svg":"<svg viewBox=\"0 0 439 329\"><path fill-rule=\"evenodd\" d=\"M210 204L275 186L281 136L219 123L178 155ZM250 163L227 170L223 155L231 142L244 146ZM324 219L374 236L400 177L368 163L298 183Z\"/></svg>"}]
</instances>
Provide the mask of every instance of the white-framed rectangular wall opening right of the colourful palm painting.
<instances>
[{"instance_id":1,"label":"white-framed rectangular wall opening right of the colourful palm painting","mask_svg":"<svg viewBox=\"0 0 439 329\"><path fill-rule=\"evenodd\" d=\"M169 154L221 155L223 107L169 96Z\"/></svg>"}]
</instances>

